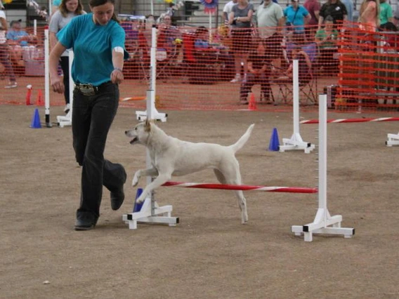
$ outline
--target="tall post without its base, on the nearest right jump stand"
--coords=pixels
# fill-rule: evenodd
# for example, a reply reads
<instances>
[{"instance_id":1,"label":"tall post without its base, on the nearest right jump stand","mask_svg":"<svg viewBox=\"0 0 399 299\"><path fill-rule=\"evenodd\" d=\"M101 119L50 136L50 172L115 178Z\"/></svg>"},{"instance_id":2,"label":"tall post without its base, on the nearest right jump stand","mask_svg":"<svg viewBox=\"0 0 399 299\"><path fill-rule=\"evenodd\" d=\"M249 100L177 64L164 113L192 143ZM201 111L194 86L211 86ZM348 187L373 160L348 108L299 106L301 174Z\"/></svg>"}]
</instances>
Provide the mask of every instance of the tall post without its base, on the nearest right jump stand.
<instances>
[{"instance_id":1,"label":"tall post without its base, on the nearest right jump stand","mask_svg":"<svg viewBox=\"0 0 399 299\"><path fill-rule=\"evenodd\" d=\"M327 218L327 95L319 95L319 209Z\"/></svg>"}]
</instances>

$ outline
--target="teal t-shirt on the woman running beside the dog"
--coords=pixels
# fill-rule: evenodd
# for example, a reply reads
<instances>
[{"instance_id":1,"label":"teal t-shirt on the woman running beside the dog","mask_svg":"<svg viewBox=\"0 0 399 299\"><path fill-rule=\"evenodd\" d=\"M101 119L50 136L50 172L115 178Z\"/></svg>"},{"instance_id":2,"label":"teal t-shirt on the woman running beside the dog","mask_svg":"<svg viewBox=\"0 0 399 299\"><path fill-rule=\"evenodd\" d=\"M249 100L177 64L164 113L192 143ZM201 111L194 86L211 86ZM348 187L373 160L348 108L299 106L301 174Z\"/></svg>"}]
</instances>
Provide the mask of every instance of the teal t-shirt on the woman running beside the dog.
<instances>
[{"instance_id":1,"label":"teal t-shirt on the woman running beside the dog","mask_svg":"<svg viewBox=\"0 0 399 299\"><path fill-rule=\"evenodd\" d=\"M124 49L125 32L115 20L107 25L93 22L93 13L79 15L60 30L58 41L65 48L72 48L72 79L79 84L98 86L110 81L112 65L112 49L119 46ZM124 58L129 53L124 50Z\"/></svg>"}]
</instances>

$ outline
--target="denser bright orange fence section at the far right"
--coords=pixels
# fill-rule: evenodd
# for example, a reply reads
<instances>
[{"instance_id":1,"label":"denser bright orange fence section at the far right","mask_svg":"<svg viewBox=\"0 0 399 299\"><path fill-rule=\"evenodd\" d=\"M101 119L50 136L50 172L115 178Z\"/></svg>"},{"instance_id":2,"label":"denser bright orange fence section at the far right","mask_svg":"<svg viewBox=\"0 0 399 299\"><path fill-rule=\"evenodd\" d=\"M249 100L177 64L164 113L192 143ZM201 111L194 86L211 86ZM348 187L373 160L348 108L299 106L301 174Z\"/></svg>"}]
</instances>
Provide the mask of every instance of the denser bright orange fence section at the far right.
<instances>
[{"instance_id":1,"label":"denser bright orange fence section at the far right","mask_svg":"<svg viewBox=\"0 0 399 299\"><path fill-rule=\"evenodd\" d=\"M345 23L339 39L336 109L398 111L398 50L398 32L367 31Z\"/></svg>"}]
</instances>

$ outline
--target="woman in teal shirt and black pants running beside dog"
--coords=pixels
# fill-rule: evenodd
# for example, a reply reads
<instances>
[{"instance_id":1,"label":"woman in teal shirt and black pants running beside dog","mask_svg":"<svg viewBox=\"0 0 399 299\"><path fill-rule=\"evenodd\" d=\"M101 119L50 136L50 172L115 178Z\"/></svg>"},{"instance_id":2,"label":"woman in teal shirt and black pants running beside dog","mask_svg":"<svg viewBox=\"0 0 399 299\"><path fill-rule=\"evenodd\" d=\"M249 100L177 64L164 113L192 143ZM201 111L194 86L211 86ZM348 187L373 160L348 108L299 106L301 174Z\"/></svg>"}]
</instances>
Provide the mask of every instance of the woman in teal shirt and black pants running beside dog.
<instances>
[{"instance_id":1,"label":"woman in teal shirt and black pants running beside dog","mask_svg":"<svg viewBox=\"0 0 399 299\"><path fill-rule=\"evenodd\" d=\"M90 0L92 13L79 15L57 34L51 51L51 86L64 92L58 76L58 60L67 49L74 51L72 79L72 138L77 162L82 166L81 197L75 230L91 230L100 215L103 185L111 192L111 207L124 201L126 172L121 164L104 159L107 133L117 113L119 87L124 75L124 29L114 13L115 0Z\"/></svg>"}]
</instances>

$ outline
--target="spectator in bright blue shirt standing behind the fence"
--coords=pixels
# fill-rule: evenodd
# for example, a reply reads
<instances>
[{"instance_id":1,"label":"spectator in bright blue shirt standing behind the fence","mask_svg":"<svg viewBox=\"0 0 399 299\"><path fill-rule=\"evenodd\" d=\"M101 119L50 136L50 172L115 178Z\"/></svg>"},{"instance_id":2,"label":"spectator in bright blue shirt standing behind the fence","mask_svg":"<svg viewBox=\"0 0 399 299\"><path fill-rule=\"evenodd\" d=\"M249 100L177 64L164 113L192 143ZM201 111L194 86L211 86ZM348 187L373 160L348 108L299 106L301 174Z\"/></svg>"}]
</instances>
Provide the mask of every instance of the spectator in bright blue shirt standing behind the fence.
<instances>
[{"instance_id":1,"label":"spectator in bright blue shirt standing behind the fence","mask_svg":"<svg viewBox=\"0 0 399 299\"><path fill-rule=\"evenodd\" d=\"M292 32L292 41L301 44L306 41L305 25L310 20L310 14L303 6L299 5L299 0L292 0L291 5L285 8L285 25Z\"/></svg>"}]
</instances>

